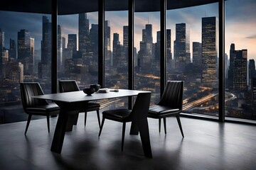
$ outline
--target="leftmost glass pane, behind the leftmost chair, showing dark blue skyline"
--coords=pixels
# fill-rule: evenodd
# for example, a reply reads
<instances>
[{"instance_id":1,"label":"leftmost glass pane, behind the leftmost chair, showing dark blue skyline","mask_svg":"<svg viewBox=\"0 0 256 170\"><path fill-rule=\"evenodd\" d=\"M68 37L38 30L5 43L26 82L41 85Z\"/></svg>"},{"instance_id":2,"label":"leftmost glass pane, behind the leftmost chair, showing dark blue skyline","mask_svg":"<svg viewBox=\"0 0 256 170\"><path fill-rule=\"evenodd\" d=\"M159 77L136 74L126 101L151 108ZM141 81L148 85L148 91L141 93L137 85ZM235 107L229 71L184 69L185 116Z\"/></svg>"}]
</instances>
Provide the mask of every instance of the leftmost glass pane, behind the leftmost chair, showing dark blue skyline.
<instances>
[{"instance_id":1,"label":"leftmost glass pane, behind the leftmost chair, showing dark blue skyline","mask_svg":"<svg viewBox=\"0 0 256 170\"><path fill-rule=\"evenodd\" d=\"M0 11L0 123L27 120L21 105L21 82L37 81L45 94L51 92L50 18Z\"/></svg>"}]
</instances>

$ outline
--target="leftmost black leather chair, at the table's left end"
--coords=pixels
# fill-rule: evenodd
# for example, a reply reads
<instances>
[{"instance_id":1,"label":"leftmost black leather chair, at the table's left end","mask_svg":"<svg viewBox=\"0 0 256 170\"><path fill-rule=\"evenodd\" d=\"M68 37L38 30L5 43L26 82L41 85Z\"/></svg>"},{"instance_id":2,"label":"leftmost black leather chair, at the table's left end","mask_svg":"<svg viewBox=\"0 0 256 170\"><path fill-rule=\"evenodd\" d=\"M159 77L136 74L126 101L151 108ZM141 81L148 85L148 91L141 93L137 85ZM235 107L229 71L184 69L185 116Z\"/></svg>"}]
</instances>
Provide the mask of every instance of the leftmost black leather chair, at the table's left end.
<instances>
[{"instance_id":1,"label":"leftmost black leather chair, at the table's left end","mask_svg":"<svg viewBox=\"0 0 256 170\"><path fill-rule=\"evenodd\" d=\"M46 115L48 132L50 132L49 117L50 115L58 115L60 108L55 103L48 103L43 99L32 98L32 96L43 95L43 90L39 83L21 83L21 101L23 110L28 114L25 135L32 115Z\"/></svg>"}]
</instances>

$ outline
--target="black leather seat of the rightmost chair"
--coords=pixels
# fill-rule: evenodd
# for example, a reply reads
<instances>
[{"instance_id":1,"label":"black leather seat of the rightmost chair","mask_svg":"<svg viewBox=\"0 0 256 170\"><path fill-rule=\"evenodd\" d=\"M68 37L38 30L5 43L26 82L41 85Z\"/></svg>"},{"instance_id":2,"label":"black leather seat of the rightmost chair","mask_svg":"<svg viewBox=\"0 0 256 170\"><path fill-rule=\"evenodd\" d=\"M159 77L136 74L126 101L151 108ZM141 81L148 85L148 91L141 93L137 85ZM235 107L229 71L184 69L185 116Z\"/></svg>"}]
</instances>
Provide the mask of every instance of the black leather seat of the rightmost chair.
<instances>
[{"instance_id":1,"label":"black leather seat of the rightmost chair","mask_svg":"<svg viewBox=\"0 0 256 170\"><path fill-rule=\"evenodd\" d=\"M160 105L153 105L149 106L149 117L150 116L161 116L161 115L170 115L170 114L176 114L179 113L180 109L178 108L170 108L167 106L160 106Z\"/></svg>"}]
</instances>

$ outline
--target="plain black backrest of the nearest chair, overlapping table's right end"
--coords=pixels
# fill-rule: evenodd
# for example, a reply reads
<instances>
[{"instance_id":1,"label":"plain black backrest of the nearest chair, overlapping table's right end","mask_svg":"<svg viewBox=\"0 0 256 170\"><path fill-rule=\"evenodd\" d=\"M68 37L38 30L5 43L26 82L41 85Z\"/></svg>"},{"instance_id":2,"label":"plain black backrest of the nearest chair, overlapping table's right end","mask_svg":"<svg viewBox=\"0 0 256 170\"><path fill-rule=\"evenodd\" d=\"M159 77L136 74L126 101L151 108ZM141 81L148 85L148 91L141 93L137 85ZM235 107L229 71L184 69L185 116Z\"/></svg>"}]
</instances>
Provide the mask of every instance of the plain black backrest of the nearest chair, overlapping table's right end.
<instances>
[{"instance_id":1,"label":"plain black backrest of the nearest chair, overlapping table's right end","mask_svg":"<svg viewBox=\"0 0 256 170\"><path fill-rule=\"evenodd\" d=\"M131 120L143 120L147 117L147 113L149 112L150 98L151 92L144 92L138 94L132 108L132 112L129 115L129 118L131 118Z\"/></svg>"}]
</instances>

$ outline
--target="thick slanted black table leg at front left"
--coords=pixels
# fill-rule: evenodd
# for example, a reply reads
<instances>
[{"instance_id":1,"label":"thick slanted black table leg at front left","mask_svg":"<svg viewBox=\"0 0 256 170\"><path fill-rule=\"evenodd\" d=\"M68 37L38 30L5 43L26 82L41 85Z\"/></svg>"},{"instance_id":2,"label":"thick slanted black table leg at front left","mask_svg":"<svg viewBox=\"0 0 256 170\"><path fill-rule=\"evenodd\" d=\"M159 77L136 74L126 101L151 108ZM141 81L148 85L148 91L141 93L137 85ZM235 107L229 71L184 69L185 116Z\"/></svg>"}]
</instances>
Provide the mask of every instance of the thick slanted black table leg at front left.
<instances>
[{"instance_id":1,"label":"thick slanted black table leg at front left","mask_svg":"<svg viewBox=\"0 0 256 170\"><path fill-rule=\"evenodd\" d=\"M50 150L58 154L61 153L63 147L63 141L65 136L65 130L68 123L68 113L60 109L60 114L58 116L57 125L55 127L55 132L53 136L53 142Z\"/></svg>"}]
</instances>

